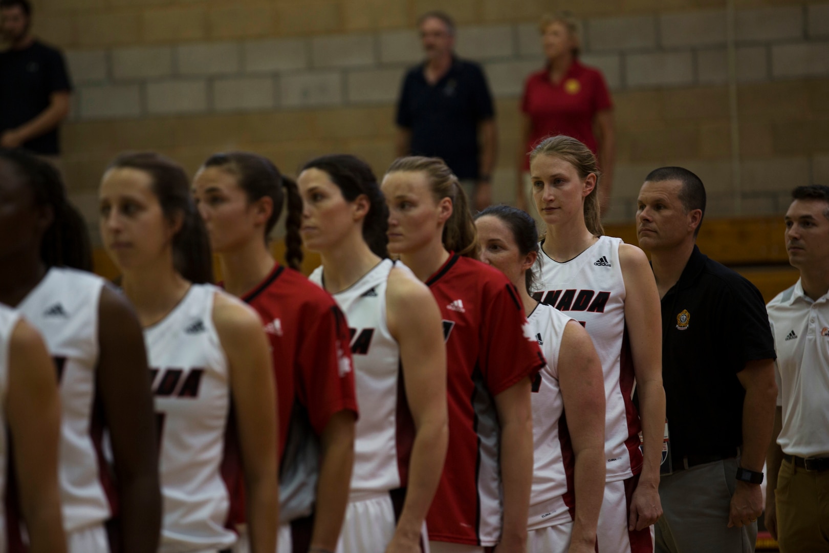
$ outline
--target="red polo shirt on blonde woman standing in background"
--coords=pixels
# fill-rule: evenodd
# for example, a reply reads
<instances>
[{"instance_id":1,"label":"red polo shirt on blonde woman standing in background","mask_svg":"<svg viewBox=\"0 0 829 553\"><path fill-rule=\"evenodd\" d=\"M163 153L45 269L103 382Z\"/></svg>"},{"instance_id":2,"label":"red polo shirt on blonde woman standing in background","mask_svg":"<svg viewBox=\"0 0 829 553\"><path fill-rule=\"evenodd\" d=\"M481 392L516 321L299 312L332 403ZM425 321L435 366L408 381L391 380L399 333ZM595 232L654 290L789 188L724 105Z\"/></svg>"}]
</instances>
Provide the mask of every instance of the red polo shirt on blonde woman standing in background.
<instances>
[{"instance_id":1,"label":"red polo shirt on blonde woman standing in background","mask_svg":"<svg viewBox=\"0 0 829 553\"><path fill-rule=\"evenodd\" d=\"M531 122L527 152L543 138L565 134L577 138L598 154L599 144L593 133L594 118L599 111L612 108L613 101L604 76L579 61L570 65L558 84L550 81L547 68L533 73L527 77L521 100L521 111ZM524 160L524 168L530 168L529 157Z\"/></svg>"}]
</instances>

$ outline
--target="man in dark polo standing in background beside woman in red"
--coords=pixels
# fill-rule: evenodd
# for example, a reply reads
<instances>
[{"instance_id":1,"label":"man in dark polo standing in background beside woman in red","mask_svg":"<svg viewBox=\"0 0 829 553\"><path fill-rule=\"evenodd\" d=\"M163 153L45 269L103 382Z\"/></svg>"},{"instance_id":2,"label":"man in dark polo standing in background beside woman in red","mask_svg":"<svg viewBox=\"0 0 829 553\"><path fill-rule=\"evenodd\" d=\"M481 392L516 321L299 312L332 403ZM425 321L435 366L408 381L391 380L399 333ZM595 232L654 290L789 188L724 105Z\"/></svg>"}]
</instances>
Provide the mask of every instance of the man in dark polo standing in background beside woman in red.
<instances>
[{"instance_id":1,"label":"man in dark polo standing in background beside woman in red","mask_svg":"<svg viewBox=\"0 0 829 553\"><path fill-rule=\"evenodd\" d=\"M403 80L397 104L397 155L443 158L471 207L481 210L492 203L497 153L487 79L480 65L454 56L455 26L448 15L428 12L418 27L426 61Z\"/></svg>"}]
</instances>

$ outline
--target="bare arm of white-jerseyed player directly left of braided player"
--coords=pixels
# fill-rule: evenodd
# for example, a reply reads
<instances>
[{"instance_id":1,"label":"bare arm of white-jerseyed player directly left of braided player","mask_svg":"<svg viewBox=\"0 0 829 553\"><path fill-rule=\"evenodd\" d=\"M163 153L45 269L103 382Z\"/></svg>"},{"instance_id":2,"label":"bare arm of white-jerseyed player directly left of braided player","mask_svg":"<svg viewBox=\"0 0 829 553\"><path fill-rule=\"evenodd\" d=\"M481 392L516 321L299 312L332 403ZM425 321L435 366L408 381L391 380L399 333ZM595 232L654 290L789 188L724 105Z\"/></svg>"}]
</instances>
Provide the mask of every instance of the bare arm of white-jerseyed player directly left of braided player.
<instances>
[{"instance_id":1,"label":"bare arm of white-jerseyed player directly left of braided player","mask_svg":"<svg viewBox=\"0 0 829 553\"><path fill-rule=\"evenodd\" d=\"M230 364L230 393L245 471L250 551L276 551L279 520L276 385L259 316L216 293L213 323Z\"/></svg>"}]
</instances>

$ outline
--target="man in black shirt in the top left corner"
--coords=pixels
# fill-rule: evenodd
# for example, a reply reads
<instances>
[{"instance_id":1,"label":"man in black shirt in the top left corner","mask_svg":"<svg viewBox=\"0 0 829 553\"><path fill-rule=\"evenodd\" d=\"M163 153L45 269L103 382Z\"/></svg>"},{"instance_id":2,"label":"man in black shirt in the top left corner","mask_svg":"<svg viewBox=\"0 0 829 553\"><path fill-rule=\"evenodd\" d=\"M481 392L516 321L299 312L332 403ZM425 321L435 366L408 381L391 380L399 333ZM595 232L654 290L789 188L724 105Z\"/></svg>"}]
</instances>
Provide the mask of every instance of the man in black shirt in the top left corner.
<instances>
[{"instance_id":1,"label":"man in black shirt in the top left corner","mask_svg":"<svg viewBox=\"0 0 829 553\"><path fill-rule=\"evenodd\" d=\"M0 147L46 158L60 153L58 125L69 114L70 85L61 52L32 36L28 0L0 0Z\"/></svg>"}]
</instances>

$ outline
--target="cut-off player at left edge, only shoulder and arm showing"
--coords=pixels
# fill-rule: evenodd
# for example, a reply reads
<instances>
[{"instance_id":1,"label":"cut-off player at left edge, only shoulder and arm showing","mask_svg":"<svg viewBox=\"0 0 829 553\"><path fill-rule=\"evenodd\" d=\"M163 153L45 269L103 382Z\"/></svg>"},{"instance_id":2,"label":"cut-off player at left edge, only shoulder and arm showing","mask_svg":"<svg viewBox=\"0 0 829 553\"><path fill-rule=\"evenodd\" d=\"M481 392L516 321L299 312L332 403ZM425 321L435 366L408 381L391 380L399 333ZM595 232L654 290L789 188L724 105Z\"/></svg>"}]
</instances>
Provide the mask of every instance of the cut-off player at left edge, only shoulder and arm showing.
<instances>
[{"instance_id":1,"label":"cut-off player at left edge, only shoulder and arm showing","mask_svg":"<svg viewBox=\"0 0 829 553\"><path fill-rule=\"evenodd\" d=\"M4 305L0 305L0 420L0 496L6 497L13 455L30 553L65 553L57 482L61 404L55 366L37 331ZM7 426L14 443L11 452ZM7 539L0 502L0 550L6 551Z\"/></svg>"}]
</instances>

